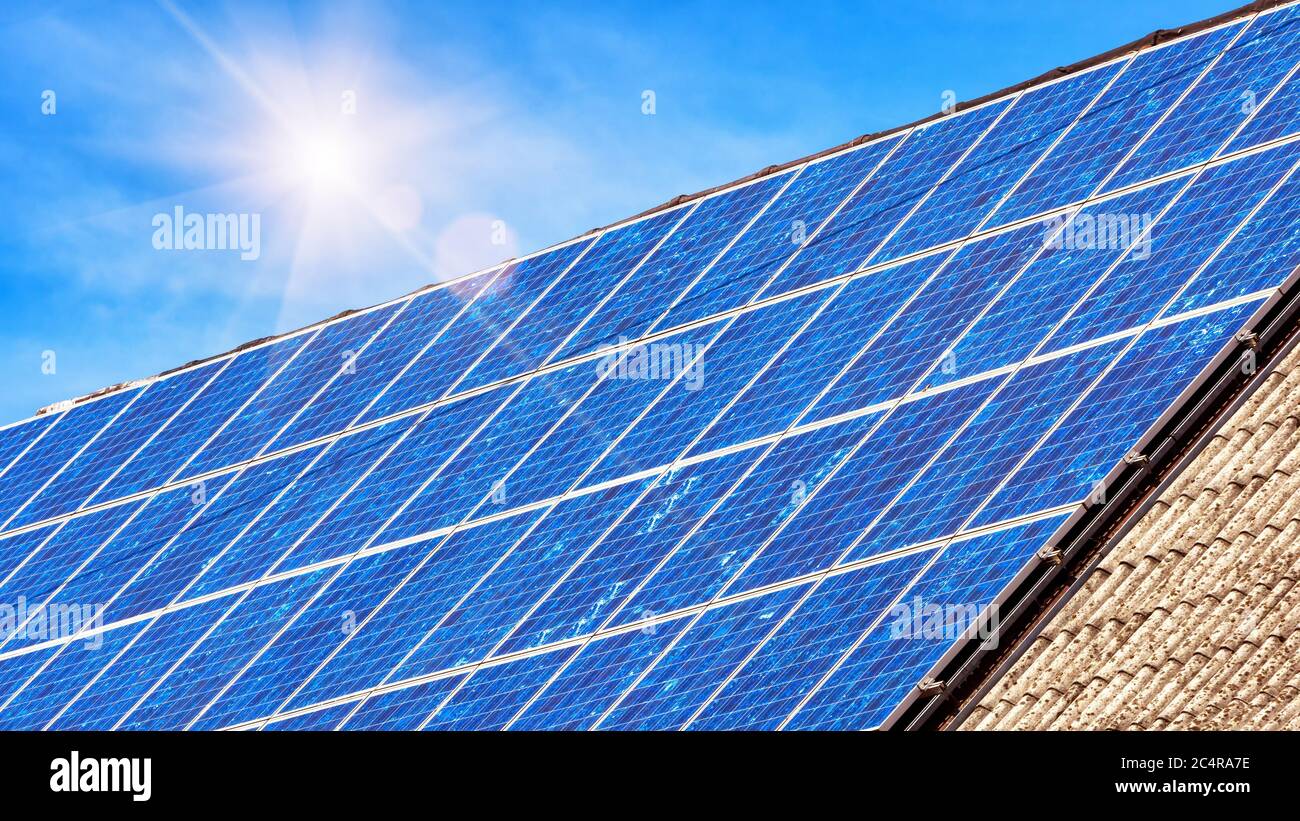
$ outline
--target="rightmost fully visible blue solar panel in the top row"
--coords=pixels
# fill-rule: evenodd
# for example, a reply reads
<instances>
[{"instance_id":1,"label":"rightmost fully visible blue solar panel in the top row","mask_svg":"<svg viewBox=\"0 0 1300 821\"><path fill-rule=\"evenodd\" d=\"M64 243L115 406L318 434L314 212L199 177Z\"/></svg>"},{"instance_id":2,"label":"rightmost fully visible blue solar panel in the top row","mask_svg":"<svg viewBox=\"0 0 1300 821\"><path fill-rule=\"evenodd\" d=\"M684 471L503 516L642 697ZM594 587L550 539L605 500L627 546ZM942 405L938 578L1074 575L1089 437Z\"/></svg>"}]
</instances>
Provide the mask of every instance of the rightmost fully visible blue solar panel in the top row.
<instances>
[{"instance_id":1,"label":"rightmost fully visible blue solar panel in the top row","mask_svg":"<svg viewBox=\"0 0 1300 821\"><path fill-rule=\"evenodd\" d=\"M1231 42L1242 23L1139 52L1105 95L993 213L1006 225L1084 199Z\"/></svg>"}]
</instances>

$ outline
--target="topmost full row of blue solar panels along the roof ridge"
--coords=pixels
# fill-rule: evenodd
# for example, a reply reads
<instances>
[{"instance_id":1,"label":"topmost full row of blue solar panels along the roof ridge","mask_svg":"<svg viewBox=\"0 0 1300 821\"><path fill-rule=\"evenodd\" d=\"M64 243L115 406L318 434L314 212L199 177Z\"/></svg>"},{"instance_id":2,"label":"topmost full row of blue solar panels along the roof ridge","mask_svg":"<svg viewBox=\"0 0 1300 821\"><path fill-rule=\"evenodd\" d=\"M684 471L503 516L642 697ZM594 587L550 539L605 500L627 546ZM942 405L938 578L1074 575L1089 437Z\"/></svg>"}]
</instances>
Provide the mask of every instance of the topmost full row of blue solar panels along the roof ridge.
<instances>
[{"instance_id":1,"label":"topmost full row of blue solar panels along the roof ridge","mask_svg":"<svg viewBox=\"0 0 1300 821\"><path fill-rule=\"evenodd\" d=\"M5 429L0 527L183 482L1288 135L1296 22L1286 8L1141 52Z\"/></svg>"}]
</instances>

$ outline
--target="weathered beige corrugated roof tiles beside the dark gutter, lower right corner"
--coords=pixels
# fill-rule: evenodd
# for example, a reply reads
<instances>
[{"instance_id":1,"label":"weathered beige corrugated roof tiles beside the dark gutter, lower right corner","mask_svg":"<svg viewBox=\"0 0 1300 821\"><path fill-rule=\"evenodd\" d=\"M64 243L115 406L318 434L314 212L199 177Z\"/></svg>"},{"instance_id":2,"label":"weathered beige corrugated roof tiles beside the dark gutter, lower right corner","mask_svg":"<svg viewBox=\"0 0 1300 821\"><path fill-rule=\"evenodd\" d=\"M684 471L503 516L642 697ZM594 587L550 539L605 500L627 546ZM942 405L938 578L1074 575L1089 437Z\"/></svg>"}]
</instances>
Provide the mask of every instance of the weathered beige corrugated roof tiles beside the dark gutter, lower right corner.
<instances>
[{"instance_id":1,"label":"weathered beige corrugated roof tiles beside the dark gutter, lower right corner","mask_svg":"<svg viewBox=\"0 0 1300 821\"><path fill-rule=\"evenodd\" d=\"M1300 729L1300 348L962 729Z\"/></svg>"}]
</instances>

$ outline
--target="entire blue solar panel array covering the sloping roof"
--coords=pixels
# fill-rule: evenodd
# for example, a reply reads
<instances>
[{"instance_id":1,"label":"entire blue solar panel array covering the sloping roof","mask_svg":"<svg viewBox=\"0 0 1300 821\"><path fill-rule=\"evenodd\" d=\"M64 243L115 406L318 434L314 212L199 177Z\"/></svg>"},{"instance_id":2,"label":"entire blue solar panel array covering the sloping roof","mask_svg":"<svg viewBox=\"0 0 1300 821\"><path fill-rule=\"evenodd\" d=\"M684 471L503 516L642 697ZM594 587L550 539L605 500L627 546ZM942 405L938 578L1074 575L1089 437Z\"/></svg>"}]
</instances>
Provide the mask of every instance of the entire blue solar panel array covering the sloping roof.
<instances>
[{"instance_id":1,"label":"entire blue solar panel array covering the sloping roof","mask_svg":"<svg viewBox=\"0 0 1300 821\"><path fill-rule=\"evenodd\" d=\"M887 724L1288 284L1297 16L0 430L0 727Z\"/></svg>"}]
</instances>

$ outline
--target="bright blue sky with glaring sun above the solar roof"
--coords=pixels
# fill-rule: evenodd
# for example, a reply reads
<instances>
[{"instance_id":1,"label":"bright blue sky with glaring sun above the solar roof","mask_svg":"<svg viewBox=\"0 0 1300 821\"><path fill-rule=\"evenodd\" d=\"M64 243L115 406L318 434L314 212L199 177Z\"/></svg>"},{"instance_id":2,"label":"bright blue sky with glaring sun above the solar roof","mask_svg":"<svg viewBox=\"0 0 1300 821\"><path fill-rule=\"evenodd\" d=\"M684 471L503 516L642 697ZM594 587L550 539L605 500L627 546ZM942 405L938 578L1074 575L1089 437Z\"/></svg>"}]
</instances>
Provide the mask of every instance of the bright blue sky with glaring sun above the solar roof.
<instances>
[{"instance_id":1,"label":"bright blue sky with glaring sun above the solar roof","mask_svg":"<svg viewBox=\"0 0 1300 821\"><path fill-rule=\"evenodd\" d=\"M1226 8L6 3L0 423ZM177 207L257 257L156 248Z\"/></svg>"}]
</instances>

